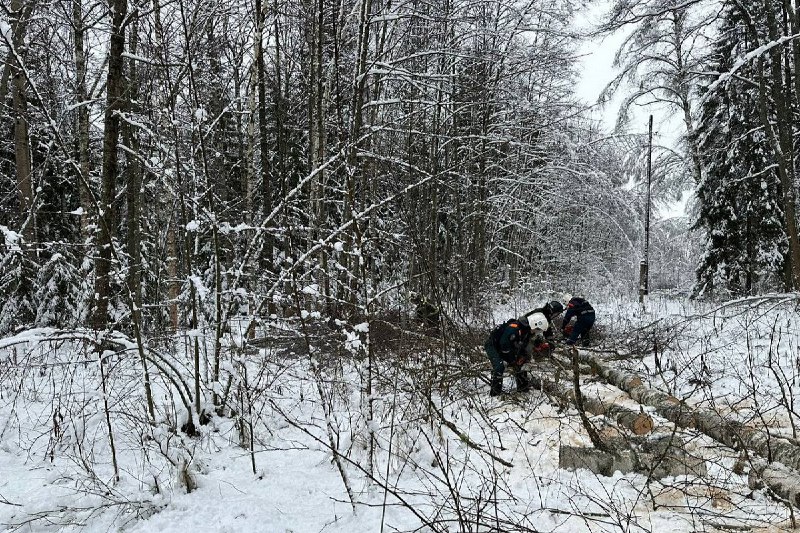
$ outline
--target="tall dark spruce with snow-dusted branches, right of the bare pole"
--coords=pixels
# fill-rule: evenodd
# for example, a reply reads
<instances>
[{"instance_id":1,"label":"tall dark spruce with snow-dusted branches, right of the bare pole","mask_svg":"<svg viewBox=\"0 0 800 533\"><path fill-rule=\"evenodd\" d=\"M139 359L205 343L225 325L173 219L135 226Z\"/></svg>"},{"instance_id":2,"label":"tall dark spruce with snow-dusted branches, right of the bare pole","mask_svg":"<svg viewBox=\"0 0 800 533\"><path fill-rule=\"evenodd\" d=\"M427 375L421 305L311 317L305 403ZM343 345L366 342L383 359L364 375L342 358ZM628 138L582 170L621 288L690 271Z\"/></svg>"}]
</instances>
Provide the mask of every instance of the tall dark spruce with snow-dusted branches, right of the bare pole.
<instances>
[{"instance_id":1,"label":"tall dark spruce with snow-dusted branches, right of the bare pole","mask_svg":"<svg viewBox=\"0 0 800 533\"><path fill-rule=\"evenodd\" d=\"M750 51L740 12L728 9L709 56L711 71L731 71ZM705 96L698 129L703 179L695 229L705 232L695 295L750 294L780 282L788 249L774 154L758 117L755 69L716 85ZM713 82L713 80L712 80ZM706 87L708 90L708 86Z\"/></svg>"}]
</instances>

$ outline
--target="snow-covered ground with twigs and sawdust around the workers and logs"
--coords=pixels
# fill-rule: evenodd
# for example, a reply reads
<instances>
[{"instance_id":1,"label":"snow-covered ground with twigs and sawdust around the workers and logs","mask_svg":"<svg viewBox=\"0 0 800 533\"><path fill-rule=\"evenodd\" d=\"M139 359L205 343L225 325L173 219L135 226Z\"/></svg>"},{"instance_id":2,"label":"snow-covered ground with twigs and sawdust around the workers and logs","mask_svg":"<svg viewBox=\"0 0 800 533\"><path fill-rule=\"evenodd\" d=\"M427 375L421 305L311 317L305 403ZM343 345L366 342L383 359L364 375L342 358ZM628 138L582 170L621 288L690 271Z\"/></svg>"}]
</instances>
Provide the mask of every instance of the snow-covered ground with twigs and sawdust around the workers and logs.
<instances>
[{"instance_id":1,"label":"snow-covered ground with twigs and sawdust around the workers and logs","mask_svg":"<svg viewBox=\"0 0 800 533\"><path fill-rule=\"evenodd\" d=\"M525 305L506 303L495 318ZM642 311L608 298L596 303L602 335L590 349L690 405L795 437L797 306L796 295L726 305L654 296ZM191 350L151 346L164 363L150 367L151 425L133 346L107 352L101 375L79 335L0 341L0 531L791 527L787 507L734 468L739 454L694 430L680 433L706 460L705 476L559 469L560 446L591 447L577 412L540 391L490 398L483 329L445 348L411 335L391 350L376 345L371 366L350 332L350 351L313 358L294 346L228 346L230 386L223 379L214 390L232 410L194 437L178 429L193 382L165 379L191 377ZM583 391L637 407L591 376ZM644 410L654 433L674 431Z\"/></svg>"}]
</instances>

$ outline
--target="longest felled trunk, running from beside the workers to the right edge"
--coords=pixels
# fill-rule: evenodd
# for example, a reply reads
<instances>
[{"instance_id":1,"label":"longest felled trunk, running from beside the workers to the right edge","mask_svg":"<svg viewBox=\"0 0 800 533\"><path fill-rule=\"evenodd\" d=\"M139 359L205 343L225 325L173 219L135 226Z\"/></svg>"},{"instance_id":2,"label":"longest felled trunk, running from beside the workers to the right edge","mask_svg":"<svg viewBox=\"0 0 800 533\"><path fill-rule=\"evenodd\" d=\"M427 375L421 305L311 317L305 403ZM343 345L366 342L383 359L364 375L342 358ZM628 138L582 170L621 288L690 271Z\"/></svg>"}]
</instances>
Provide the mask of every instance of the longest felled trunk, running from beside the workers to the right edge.
<instances>
[{"instance_id":1,"label":"longest felled trunk, running from beside the workers to the right edge","mask_svg":"<svg viewBox=\"0 0 800 533\"><path fill-rule=\"evenodd\" d=\"M670 394L649 389L636 374L610 368L597 357L580 352L578 357L610 384L627 392L635 401L654 407L658 414L674 424L695 428L730 448L746 449L766 459L753 458L750 475L754 480L763 481L781 498L800 506L800 446L738 420L727 419L710 409L693 408Z\"/></svg>"}]
</instances>

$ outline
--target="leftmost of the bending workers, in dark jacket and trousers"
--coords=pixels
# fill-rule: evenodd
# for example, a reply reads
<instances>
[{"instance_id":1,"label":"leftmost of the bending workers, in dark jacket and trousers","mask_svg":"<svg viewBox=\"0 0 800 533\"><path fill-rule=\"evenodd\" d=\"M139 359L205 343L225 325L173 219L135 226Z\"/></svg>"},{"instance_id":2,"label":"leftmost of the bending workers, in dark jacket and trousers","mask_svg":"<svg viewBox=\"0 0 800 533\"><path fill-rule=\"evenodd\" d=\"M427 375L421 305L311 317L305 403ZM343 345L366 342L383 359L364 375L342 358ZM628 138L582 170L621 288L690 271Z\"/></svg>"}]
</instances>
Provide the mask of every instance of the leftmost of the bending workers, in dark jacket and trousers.
<instances>
[{"instance_id":1,"label":"leftmost of the bending workers, in dark jacket and trousers","mask_svg":"<svg viewBox=\"0 0 800 533\"><path fill-rule=\"evenodd\" d=\"M503 392L503 372L506 366L514 373L517 391L525 392L530 389L528 373L522 370L522 365L530 359L527 349L530 340L531 327L524 317L500 324L486 339L484 348L492 362L490 396L497 396Z\"/></svg>"}]
</instances>

